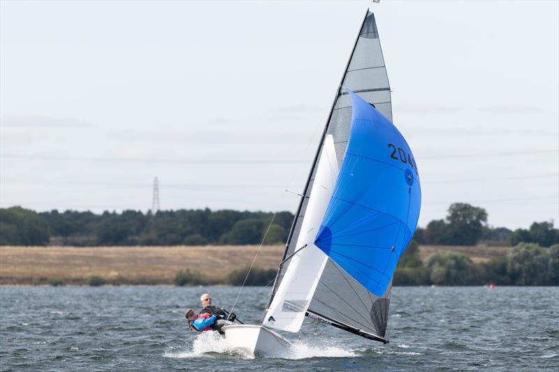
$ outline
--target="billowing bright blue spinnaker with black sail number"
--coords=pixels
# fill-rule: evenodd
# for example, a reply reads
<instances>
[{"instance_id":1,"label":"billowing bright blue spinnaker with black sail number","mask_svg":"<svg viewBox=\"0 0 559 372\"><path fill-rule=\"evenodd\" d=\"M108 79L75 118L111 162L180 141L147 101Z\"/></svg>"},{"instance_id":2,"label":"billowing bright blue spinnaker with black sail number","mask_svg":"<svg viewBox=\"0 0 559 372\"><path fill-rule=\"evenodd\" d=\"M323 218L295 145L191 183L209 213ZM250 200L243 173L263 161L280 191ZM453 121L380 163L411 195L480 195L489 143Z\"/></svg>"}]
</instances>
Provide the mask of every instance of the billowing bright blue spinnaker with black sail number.
<instances>
[{"instance_id":1,"label":"billowing bright blue spinnaker with black sail number","mask_svg":"<svg viewBox=\"0 0 559 372\"><path fill-rule=\"evenodd\" d=\"M417 226L419 172L398 129L348 93L353 105L349 142L314 244L382 297Z\"/></svg>"}]
</instances>

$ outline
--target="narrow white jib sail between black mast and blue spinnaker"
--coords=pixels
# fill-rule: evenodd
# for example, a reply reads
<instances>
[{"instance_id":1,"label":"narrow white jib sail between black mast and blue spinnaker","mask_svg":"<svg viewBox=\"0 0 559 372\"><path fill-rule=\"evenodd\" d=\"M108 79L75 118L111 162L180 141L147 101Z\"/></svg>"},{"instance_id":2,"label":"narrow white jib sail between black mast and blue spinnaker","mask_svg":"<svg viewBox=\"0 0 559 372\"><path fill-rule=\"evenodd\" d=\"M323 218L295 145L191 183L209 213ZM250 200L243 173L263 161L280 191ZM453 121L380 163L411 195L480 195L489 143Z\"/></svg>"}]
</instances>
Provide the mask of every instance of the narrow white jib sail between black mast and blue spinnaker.
<instances>
[{"instance_id":1,"label":"narrow white jib sail between black mast and blue spinnaker","mask_svg":"<svg viewBox=\"0 0 559 372\"><path fill-rule=\"evenodd\" d=\"M289 262L281 285L266 312L262 325L288 332L298 332L310 300L317 288L328 257L313 241L332 196L338 165L332 135L326 135L319 158L314 187L297 239L298 251Z\"/></svg>"}]
</instances>

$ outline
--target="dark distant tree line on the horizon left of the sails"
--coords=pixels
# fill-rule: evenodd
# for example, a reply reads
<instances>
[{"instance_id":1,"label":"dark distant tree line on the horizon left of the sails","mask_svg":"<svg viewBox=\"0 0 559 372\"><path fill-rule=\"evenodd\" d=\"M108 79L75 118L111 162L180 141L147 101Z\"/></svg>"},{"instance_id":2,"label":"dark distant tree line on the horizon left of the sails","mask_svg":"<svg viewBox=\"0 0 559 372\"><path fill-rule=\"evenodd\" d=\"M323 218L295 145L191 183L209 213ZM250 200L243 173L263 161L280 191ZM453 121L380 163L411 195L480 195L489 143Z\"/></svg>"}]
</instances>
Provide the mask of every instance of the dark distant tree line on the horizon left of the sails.
<instances>
[{"instance_id":1,"label":"dark distant tree line on the horizon left of the sails","mask_svg":"<svg viewBox=\"0 0 559 372\"><path fill-rule=\"evenodd\" d=\"M273 218L273 220L272 220ZM0 209L0 245L12 246L200 246L282 244L293 214L262 211L180 209L157 211L57 210L37 213L22 207ZM271 223L271 225L270 225ZM269 227L269 228L268 228Z\"/></svg>"}]
</instances>

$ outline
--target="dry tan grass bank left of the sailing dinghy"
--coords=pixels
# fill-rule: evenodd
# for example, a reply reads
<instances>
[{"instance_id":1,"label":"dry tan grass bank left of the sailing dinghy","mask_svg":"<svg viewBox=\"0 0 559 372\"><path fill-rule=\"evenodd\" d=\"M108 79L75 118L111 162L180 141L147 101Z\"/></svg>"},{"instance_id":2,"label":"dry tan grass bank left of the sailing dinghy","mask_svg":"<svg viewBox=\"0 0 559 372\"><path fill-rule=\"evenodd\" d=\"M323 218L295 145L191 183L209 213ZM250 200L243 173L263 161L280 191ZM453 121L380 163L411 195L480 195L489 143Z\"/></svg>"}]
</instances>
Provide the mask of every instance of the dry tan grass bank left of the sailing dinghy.
<instances>
[{"instance_id":1,"label":"dry tan grass bank left of the sailing dinghy","mask_svg":"<svg viewBox=\"0 0 559 372\"><path fill-rule=\"evenodd\" d=\"M178 271L212 279L250 265L258 246L0 246L0 284L42 284L49 279L84 284L90 276L110 283L172 284ZM262 246L255 267L277 267L284 246Z\"/></svg>"}]
</instances>

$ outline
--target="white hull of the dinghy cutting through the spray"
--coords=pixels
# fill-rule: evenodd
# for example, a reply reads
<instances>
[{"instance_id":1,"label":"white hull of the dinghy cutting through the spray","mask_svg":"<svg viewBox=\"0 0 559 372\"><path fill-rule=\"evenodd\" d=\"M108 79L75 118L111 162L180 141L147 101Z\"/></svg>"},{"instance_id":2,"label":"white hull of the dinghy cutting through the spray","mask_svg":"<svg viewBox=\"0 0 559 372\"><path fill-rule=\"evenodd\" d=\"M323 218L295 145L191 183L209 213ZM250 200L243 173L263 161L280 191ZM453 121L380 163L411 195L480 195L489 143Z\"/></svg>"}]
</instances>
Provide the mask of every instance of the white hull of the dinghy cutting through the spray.
<instances>
[{"instance_id":1,"label":"white hull of the dinghy cutting through the spray","mask_svg":"<svg viewBox=\"0 0 559 372\"><path fill-rule=\"evenodd\" d=\"M291 343L261 325L226 325L225 339L233 348L253 357L282 357L291 352Z\"/></svg>"}]
</instances>

